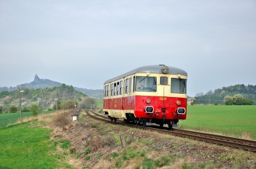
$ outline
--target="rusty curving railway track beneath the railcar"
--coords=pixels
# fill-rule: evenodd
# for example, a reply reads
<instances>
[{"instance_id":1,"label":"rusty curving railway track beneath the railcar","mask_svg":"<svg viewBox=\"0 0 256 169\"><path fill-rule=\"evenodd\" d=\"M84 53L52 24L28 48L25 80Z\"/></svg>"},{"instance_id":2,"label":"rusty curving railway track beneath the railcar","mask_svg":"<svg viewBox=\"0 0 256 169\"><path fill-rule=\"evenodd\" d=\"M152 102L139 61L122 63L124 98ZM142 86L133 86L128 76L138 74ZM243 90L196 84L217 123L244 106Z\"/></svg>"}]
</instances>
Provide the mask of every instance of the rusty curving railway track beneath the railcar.
<instances>
[{"instance_id":1,"label":"rusty curving railway track beneath the railcar","mask_svg":"<svg viewBox=\"0 0 256 169\"><path fill-rule=\"evenodd\" d=\"M200 132L188 131L184 129L171 129L171 130L169 130L168 128L160 129L159 126L152 126L152 127L136 126L135 124L129 124L124 121L116 121L116 122L110 121L108 117L97 114L95 112L92 112L93 115L90 114L89 112L86 112L86 113L90 115L90 117L92 117L93 119L96 119L98 121L108 122L111 124L120 124L124 126L130 126L132 128L145 129L148 131L157 131L158 133L164 133L167 135L180 136L183 138L191 138L193 140L200 140L207 143L214 143L217 145L223 145L223 146L228 146L228 147L237 148L237 149L244 149L246 151L256 152L256 141L254 140L245 140L245 139L234 138L230 136L200 133ZM97 117L95 117L95 115Z\"/></svg>"}]
</instances>

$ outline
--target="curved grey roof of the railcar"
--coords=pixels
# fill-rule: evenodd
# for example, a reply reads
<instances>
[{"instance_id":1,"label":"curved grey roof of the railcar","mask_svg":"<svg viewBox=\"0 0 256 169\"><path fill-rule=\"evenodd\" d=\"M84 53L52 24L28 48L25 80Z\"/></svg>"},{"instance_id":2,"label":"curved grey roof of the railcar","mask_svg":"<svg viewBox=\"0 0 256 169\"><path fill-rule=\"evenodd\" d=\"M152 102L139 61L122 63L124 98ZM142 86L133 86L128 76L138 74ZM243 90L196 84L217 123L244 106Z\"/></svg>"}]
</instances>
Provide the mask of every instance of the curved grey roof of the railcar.
<instances>
[{"instance_id":1,"label":"curved grey roof of the railcar","mask_svg":"<svg viewBox=\"0 0 256 169\"><path fill-rule=\"evenodd\" d=\"M167 66L169 68L167 73L163 73L161 71L161 69L163 68L163 66L165 66L164 64L159 64L159 65L149 65L149 66L141 66L139 68L136 68L132 71L129 71L127 73L124 73L122 75L119 75L118 77L114 77L111 78L109 80L107 80L106 82L104 82L104 84L107 84L109 82L113 82L115 80L118 80L120 78L123 77L127 77L129 75L132 75L134 73L157 73L157 74L163 74L163 75L184 75L184 76L188 76L188 73L184 70L181 70L179 68L174 68L172 66Z\"/></svg>"}]
</instances>

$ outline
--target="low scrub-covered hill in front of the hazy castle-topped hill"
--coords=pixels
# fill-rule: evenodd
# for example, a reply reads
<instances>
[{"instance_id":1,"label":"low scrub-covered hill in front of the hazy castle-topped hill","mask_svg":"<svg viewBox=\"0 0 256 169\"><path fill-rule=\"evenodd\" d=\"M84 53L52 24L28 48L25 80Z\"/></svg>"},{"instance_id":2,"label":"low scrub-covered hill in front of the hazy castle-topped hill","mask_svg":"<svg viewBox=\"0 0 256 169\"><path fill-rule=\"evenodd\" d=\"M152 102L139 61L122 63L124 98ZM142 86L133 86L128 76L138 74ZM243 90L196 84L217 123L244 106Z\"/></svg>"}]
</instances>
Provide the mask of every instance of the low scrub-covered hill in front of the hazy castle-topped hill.
<instances>
[{"instance_id":1,"label":"low scrub-covered hill in front of the hazy castle-topped hill","mask_svg":"<svg viewBox=\"0 0 256 169\"><path fill-rule=\"evenodd\" d=\"M56 98L65 103L68 99L77 100L78 104L81 104L88 95L83 92L76 91L72 85L62 84L61 86L45 87L38 89L28 89L26 87L20 87L20 102L22 108L29 108L33 104L37 104L42 107L42 99L44 98L44 108L52 108L56 103ZM19 107L19 91L3 91L0 92L0 106L4 106L4 110L7 110L11 105Z\"/></svg>"}]
</instances>

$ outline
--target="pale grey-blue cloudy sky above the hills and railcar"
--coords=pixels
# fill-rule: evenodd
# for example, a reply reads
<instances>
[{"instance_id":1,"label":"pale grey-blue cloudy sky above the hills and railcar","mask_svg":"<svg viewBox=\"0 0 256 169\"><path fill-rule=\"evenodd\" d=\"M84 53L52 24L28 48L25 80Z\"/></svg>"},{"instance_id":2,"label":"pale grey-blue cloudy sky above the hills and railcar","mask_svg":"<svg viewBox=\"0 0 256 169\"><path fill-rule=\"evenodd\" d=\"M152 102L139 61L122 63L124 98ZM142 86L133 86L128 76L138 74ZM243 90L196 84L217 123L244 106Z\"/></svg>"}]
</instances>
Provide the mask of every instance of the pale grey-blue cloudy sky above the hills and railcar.
<instances>
[{"instance_id":1,"label":"pale grey-blue cloudy sky above the hills and railcar","mask_svg":"<svg viewBox=\"0 0 256 169\"><path fill-rule=\"evenodd\" d=\"M0 0L0 87L103 89L156 64L187 71L188 96L256 85L256 1Z\"/></svg>"}]
</instances>

